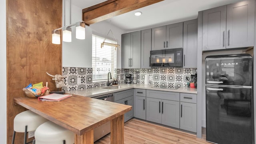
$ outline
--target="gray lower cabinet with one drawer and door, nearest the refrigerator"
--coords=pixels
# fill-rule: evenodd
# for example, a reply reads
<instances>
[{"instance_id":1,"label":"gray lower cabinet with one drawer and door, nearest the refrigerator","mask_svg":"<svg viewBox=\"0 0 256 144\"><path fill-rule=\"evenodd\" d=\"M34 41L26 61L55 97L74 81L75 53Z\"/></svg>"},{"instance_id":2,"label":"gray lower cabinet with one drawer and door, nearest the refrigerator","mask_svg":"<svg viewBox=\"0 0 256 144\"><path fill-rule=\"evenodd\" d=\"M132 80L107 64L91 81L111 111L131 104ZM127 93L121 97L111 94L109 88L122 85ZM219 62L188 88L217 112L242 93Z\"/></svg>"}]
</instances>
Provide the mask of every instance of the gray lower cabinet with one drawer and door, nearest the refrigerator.
<instances>
[{"instance_id":1,"label":"gray lower cabinet with one drawer and door, nearest the refrigerator","mask_svg":"<svg viewBox=\"0 0 256 144\"><path fill-rule=\"evenodd\" d=\"M196 94L180 93L180 129L196 132Z\"/></svg>"}]
</instances>

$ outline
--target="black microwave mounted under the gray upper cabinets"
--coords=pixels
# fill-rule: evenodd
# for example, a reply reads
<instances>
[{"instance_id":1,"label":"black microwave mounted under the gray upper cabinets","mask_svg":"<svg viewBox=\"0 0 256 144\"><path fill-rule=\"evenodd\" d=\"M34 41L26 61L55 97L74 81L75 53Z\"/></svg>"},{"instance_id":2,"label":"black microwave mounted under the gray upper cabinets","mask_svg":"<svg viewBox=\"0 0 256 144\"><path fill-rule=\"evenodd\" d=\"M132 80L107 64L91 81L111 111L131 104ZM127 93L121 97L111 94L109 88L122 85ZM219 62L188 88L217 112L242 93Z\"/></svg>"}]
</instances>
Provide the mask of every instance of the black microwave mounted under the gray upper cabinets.
<instances>
[{"instance_id":1,"label":"black microwave mounted under the gray upper cabinets","mask_svg":"<svg viewBox=\"0 0 256 144\"><path fill-rule=\"evenodd\" d=\"M182 67L183 48L150 51L150 67Z\"/></svg>"}]
</instances>

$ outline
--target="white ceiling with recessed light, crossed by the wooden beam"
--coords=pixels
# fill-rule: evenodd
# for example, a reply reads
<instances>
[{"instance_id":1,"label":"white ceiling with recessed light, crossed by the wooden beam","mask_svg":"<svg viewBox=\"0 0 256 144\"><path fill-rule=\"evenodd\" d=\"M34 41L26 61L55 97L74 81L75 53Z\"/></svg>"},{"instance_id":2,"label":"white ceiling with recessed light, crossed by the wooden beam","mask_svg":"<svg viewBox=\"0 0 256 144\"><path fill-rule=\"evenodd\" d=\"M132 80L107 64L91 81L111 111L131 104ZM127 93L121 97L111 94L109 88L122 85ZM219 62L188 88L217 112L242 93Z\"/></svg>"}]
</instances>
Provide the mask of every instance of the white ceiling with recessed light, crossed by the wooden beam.
<instances>
[{"instance_id":1,"label":"white ceiling with recessed light, crossed by the wooden beam","mask_svg":"<svg viewBox=\"0 0 256 144\"><path fill-rule=\"evenodd\" d=\"M104 1L106 0L73 0L72 4L83 9ZM239 1L242 0L164 0L106 21L122 30L132 32L192 20L197 18L198 11ZM135 16L136 11L142 12L142 15Z\"/></svg>"}]
</instances>

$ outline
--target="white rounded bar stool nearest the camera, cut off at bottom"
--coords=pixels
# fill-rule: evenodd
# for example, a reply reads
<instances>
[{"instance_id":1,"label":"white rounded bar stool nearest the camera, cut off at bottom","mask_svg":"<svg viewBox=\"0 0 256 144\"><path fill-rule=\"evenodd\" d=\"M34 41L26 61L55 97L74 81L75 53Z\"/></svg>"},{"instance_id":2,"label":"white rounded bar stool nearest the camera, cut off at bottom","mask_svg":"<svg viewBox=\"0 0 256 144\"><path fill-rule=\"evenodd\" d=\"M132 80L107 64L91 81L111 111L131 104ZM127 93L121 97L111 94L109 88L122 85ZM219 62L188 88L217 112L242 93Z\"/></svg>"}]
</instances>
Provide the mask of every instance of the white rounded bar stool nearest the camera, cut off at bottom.
<instances>
[{"instance_id":1,"label":"white rounded bar stool nearest the camera, cut off at bottom","mask_svg":"<svg viewBox=\"0 0 256 144\"><path fill-rule=\"evenodd\" d=\"M74 141L73 132L48 121L36 129L33 144L74 144Z\"/></svg>"}]
</instances>

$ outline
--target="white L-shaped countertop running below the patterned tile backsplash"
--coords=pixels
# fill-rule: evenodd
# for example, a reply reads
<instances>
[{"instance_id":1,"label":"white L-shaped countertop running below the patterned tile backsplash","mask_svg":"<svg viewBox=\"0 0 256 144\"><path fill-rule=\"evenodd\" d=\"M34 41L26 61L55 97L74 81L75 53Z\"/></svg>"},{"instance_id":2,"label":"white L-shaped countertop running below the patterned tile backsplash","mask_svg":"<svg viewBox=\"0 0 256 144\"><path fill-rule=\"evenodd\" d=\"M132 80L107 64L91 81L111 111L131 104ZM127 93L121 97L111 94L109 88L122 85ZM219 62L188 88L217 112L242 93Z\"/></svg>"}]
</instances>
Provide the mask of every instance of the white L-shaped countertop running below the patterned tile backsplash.
<instances>
[{"instance_id":1,"label":"white L-shaped countertop running below the patterned tile backsplash","mask_svg":"<svg viewBox=\"0 0 256 144\"><path fill-rule=\"evenodd\" d=\"M182 93L197 94L196 88L186 88L186 87L180 87L177 90L173 90L173 89L164 89L164 88L152 88L153 85L151 84L118 84L113 86L126 86L126 87L118 88L118 89L105 89L105 87L107 86L104 86L104 87L90 88L85 90L67 91L66 93L75 94L78 96L94 97L94 96L100 96L104 94L111 94L114 92L120 92L122 90L138 88L138 89L146 89L146 90L160 90L160 91L167 91L167 92L182 92Z\"/></svg>"}]
</instances>

